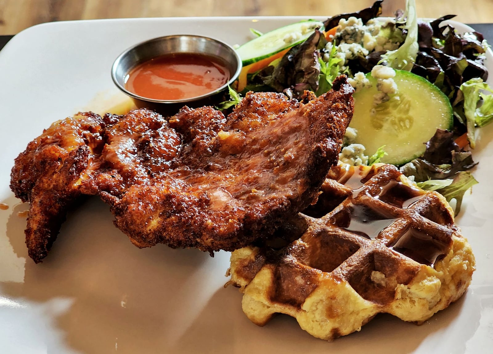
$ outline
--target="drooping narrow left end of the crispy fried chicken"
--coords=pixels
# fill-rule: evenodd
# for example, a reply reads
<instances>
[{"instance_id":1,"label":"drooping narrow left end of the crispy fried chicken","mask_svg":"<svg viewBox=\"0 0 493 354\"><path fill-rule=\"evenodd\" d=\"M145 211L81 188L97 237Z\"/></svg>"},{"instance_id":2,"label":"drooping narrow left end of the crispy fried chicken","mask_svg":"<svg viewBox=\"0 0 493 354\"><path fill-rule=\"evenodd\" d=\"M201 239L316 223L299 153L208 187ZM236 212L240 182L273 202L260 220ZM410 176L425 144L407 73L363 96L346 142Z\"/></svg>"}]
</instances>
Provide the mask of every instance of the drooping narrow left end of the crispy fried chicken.
<instances>
[{"instance_id":1,"label":"drooping narrow left end of the crispy fried chicken","mask_svg":"<svg viewBox=\"0 0 493 354\"><path fill-rule=\"evenodd\" d=\"M103 126L93 113L55 122L15 159L10 188L31 203L25 233L35 262L46 257L67 209L82 195L81 179L99 167Z\"/></svg>"}]
</instances>

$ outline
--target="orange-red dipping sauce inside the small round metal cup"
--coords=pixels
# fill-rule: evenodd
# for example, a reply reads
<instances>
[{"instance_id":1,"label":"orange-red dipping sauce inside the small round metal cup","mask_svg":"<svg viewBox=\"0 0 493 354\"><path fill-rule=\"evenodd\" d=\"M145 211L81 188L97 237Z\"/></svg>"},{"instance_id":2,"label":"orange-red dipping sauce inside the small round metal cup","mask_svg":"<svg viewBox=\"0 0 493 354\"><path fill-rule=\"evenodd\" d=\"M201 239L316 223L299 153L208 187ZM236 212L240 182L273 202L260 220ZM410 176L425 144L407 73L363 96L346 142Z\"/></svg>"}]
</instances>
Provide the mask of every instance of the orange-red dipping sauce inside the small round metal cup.
<instances>
[{"instance_id":1,"label":"orange-red dipping sauce inside the small round metal cup","mask_svg":"<svg viewBox=\"0 0 493 354\"><path fill-rule=\"evenodd\" d=\"M230 75L219 58L176 53L137 65L127 75L125 88L145 98L186 99L219 89L228 82Z\"/></svg>"}]
</instances>

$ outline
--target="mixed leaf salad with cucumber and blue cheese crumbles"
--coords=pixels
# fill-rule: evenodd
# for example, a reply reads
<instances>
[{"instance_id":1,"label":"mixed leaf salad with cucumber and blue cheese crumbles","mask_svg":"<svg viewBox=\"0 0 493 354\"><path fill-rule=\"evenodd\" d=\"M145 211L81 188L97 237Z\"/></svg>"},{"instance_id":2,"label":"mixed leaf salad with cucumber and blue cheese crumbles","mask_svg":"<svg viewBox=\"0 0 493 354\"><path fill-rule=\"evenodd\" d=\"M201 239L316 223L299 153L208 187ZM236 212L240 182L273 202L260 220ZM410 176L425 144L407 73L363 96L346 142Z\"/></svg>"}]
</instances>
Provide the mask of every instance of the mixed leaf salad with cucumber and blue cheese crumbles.
<instances>
[{"instance_id":1,"label":"mixed leaf salad with cucumber and blue cheese crumbles","mask_svg":"<svg viewBox=\"0 0 493 354\"><path fill-rule=\"evenodd\" d=\"M379 18L382 2L324 22L251 29L257 37L237 48L244 67L222 108L248 91L319 96L345 74L355 107L339 160L395 164L419 187L455 199L457 214L477 183L469 171L476 128L493 120L489 46L481 33L443 23L454 15L419 19L414 0L395 18Z\"/></svg>"}]
</instances>

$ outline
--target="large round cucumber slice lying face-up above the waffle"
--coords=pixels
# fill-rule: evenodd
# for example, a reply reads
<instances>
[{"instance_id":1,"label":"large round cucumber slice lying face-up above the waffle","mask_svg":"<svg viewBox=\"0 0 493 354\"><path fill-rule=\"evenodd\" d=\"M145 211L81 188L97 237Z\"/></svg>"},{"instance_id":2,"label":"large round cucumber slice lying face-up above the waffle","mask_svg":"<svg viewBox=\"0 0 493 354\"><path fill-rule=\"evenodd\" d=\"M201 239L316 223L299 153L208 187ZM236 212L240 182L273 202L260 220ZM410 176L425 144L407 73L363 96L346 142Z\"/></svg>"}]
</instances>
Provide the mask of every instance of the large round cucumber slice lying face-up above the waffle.
<instances>
[{"instance_id":1,"label":"large round cucumber slice lying face-up above the waffle","mask_svg":"<svg viewBox=\"0 0 493 354\"><path fill-rule=\"evenodd\" d=\"M367 154L385 145L388 155L380 161L401 165L423 155L436 129L452 129L454 121L450 101L438 87L409 71L395 72L397 94L376 107L377 79L366 74L372 86L353 95L350 127L358 130L355 143L363 144Z\"/></svg>"}]
</instances>

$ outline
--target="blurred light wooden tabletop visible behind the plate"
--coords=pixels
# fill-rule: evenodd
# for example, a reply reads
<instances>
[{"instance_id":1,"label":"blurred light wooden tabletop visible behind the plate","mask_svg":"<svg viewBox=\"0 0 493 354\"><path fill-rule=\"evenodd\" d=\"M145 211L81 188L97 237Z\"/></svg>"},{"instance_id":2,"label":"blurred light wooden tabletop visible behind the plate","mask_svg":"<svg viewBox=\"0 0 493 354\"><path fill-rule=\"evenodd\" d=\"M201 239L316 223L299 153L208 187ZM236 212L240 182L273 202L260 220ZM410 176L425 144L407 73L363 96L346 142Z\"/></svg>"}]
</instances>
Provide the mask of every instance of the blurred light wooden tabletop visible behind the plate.
<instances>
[{"instance_id":1,"label":"blurred light wooden tabletop visible behind the plate","mask_svg":"<svg viewBox=\"0 0 493 354\"><path fill-rule=\"evenodd\" d=\"M457 14L464 23L493 22L493 0L417 0L419 17ZM0 34L65 20L176 16L330 16L368 7L373 0L0 0ZM405 0L384 1L383 15Z\"/></svg>"}]
</instances>

